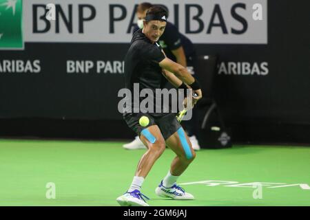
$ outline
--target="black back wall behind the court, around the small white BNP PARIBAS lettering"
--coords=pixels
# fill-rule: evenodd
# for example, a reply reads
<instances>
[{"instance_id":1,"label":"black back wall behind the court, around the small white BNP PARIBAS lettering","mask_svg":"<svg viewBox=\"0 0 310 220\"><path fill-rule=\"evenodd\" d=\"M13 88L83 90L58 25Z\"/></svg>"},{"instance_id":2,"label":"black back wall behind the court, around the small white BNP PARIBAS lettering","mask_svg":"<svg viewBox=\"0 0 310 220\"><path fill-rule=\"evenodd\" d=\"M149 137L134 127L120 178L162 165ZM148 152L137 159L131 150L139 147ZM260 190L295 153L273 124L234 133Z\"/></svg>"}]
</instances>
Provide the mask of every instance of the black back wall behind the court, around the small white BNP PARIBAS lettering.
<instances>
[{"instance_id":1,"label":"black back wall behind the court, around the small white BNP PARIBAS lettering","mask_svg":"<svg viewBox=\"0 0 310 220\"><path fill-rule=\"evenodd\" d=\"M310 143L309 3L268 1L268 44L197 44L218 65L267 63L265 76L216 74L216 100L235 142ZM68 74L66 62L123 61L124 43L25 43L0 61L40 61L41 72L0 73L0 135L130 138L117 111L119 72ZM60 53L59 53L60 52Z\"/></svg>"}]
</instances>

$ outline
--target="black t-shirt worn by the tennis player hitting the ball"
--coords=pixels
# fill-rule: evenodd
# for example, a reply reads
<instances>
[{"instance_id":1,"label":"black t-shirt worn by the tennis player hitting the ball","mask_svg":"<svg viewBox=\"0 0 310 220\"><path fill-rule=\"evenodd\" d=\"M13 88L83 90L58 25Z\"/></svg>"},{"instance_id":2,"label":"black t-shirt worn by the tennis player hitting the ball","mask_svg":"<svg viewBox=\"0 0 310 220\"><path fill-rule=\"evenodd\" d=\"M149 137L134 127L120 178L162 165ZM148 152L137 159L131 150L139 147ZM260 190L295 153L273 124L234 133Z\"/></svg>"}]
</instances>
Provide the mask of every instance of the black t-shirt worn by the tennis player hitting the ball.
<instances>
[{"instance_id":1,"label":"black t-shirt worn by the tennis player hitting the ball","mask_svg":"<svg viewBox=\"0 0 310 220\"><path fill-rule=\"evenodd\" d=\"M158 43L152 43L147 39L142 30L138 30L134 33L130 48L125 56L125 87L130 89L132 97L131 106L126 109L131 109L132 112L138 111L134 108L134 96L138 96L142 89L151 89L154 96L154 104L156 104L155 89L161 89L163 82L163 74L161 73L161 67L158 65L165 55L161 52L161 46ZM134 83L138 83L138 90L134 91ZM139 98L139 103L145 98ZM158 103L157 103L158 104ZM154 106L156 111L156 106ZM161 113L154 113L154 115L161 115Z\"/></svg>"}]
</instances>

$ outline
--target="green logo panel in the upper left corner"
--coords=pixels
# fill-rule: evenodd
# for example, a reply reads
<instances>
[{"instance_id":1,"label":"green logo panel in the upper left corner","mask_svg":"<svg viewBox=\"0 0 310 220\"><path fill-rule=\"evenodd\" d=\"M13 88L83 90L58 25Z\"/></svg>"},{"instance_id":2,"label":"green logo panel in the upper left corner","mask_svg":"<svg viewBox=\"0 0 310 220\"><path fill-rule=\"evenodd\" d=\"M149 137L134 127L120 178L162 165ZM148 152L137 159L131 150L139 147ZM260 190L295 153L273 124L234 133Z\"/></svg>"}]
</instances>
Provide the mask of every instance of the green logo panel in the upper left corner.
<instances>
[{"instance_id":1,"label":"green logo panel in the upper left corner","mask_svg":"<svg viewBox=\"0 0 310 220\"><path fill-rule=\"evenodd\" d=\"M0 0L0 50L23 49L22 0Z\"/></svg>"}]
</instances>

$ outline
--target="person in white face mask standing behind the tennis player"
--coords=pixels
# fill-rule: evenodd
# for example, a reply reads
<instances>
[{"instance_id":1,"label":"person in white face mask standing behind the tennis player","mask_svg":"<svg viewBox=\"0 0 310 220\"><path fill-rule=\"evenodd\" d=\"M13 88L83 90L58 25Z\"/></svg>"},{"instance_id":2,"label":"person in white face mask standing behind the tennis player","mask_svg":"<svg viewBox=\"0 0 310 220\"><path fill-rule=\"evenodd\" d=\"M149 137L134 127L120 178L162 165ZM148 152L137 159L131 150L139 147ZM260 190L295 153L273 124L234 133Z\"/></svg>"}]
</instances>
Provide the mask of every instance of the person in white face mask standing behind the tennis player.
<instances>
[{"instance_id":1,"label":"person in white face mask standing behind the tennis player","mask_svg":"<svg viewBox=\"0 0 310 220\"><path fill-rule=\"evenodd\" d=\"M134 28L134 32L143 28L143 21L145 21L145 15L147 13L147 10L152 6L152 3L147 2L138 5L136 9L136 17L138 18L138 20L137 25ZM187 39L186 36L178 32L178 29L174 24L167 21L165 32L158 40L158 43L161 45L161 48L163 48L163 51L165 52L167 58L182 65L183 67L187 67L187 70L190 74L195 74L194 61L196 59L196 50L194 48L194 45L192 41ZM173 88L173 85L169 83L166 79L164 79L163 87L171 89ZM200 146L196 138L196 133L198 132L198 123L196 122L195 109L193 109L192 119L183 121L182 124L185 132L189 136L189 140L192 143L194 150L200 150ZM140 138L136 136L132 142L124 144L123 148L127 150L135 150L146 148L146 146L143 144L143 142L141 142Z\"/></svg>"}]
</instances>

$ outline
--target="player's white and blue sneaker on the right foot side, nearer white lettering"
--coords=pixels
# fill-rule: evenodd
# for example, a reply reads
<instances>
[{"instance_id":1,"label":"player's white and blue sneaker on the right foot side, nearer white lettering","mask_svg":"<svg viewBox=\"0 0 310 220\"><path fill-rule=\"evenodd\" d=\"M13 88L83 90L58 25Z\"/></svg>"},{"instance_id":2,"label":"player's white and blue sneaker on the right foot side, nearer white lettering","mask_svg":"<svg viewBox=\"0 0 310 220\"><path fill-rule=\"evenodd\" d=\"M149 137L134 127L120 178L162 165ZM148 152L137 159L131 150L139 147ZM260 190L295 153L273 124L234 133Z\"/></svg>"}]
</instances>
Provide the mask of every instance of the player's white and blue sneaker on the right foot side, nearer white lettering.
<instances>
[{"instance_id":1,"label":"player's white and blue sneaker on the right foot side, nearer white lettering","mask_svg":"<svg viewBox=\"0 0 310 220\"><path fill-rule=\"evenodd\" d=\"M180 186L176 184L174 184L174 186L172 187L166 188L165 186L163 186L163 181L161 181L161 184L159 184L155 192L156 192L156 195L158 195L159 197L170 197L176 200L194 199L194 196L192 194L185 192L183 188L181 188Z\"/></svg>"}]
</instances>

